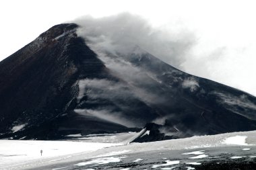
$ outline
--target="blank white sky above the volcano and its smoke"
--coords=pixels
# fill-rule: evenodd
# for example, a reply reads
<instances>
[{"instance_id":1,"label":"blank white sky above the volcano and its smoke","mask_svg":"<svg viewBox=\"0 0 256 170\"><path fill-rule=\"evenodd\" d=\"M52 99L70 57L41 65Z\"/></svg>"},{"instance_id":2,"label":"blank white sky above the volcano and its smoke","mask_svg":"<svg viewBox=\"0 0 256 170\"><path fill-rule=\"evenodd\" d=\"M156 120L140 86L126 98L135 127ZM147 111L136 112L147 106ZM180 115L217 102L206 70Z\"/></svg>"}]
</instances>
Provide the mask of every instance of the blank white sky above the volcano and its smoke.
<instances>
[{"instance_id":1,"label":"blank white sky above the volcano and its smoke","mask_svg":"<svg viewBox=\"0 0 256 170\"><path fill-rule=\"evenodd\" d=\"M256 1L0 1L0 60L56 24L82 15L129 11L170 32L189 30L197 44L179 67L256 95Z\"/></svg>"}]
</instances>

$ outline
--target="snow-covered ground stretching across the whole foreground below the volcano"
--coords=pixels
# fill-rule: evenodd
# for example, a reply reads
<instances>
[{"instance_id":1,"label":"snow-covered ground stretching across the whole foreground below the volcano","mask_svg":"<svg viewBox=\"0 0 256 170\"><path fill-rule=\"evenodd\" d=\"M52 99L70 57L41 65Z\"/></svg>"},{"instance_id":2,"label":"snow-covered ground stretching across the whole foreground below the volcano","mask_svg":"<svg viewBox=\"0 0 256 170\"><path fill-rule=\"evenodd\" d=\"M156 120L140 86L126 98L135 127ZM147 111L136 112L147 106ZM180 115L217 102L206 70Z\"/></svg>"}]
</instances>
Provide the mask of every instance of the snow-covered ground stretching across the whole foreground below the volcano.
<instances>
[{"instance_id":1,"label":"snow-covered ground stretching across the whole foreground below the volcano","mask_svg":"<svg viewBox=\"0 0 256 170\"><path fill-rule=\"evenodd\" d=\"M79 138L74 141L0 140L0 167L1 169L36 169L40 166L75 161L77 163L73 166L107 164L119 162L129 154L174 150L184 151L181 155L191 160L187 163L188 165L199 165L200 163L193 160L210 157L205 153L206 148L239 146L241 152L251 152L251 148L255 148L256 145L256 131L129 144L129 140L138 134L134 132L90 136L74 134L73 137ZM196 151L190 152L191 149ZM42 156L40 150L42 150ZM239 155L230 157L230 159L239 158L241 158ZM83 161L88 159L90 161ZM141 161L143 161L142 157L131 160L133 163ZM168 166L172 163L178 162L166 160L164 165L156 164L154 167Z\"/></svg>"}]
</instances>

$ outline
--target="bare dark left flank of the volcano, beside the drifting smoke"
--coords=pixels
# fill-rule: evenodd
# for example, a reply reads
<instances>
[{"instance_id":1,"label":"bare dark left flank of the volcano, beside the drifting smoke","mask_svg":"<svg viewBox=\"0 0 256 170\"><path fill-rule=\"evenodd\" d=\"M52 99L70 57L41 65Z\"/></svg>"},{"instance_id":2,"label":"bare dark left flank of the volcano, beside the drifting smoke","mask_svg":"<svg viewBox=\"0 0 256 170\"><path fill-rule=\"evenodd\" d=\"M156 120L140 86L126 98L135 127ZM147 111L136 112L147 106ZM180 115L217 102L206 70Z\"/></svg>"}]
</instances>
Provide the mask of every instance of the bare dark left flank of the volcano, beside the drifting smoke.
<instances>
[{"instance_id":1,"label":"bare dark left flank of the volcano, beside the drifting smoke","mask_svg":"<svg viewBox=\"0 0 256 170\"><path fill-rule=\"evenodd\" d=\"M73 112L78 79L112 79L96 54L77 38L75 28L75 24L54 26L0 62L1 133L20 124L26 124L26 132L18 136L38 139L58 138L62 129L125 128Z\"/></svg>"}]
</instances>

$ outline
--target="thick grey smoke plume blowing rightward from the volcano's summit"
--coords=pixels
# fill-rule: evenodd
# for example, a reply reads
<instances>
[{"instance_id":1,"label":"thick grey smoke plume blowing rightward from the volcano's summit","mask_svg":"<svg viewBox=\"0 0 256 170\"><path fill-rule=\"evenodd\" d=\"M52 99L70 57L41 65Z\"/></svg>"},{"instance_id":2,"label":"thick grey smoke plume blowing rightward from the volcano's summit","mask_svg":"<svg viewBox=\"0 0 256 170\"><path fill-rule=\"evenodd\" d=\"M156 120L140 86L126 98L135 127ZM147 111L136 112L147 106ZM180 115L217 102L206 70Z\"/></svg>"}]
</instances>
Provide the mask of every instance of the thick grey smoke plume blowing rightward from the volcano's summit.
<instances>
[{"instance_id":1,"label":"thick grey smoke plume blowing rightward from the volcano's summit","mask_svg":"<svg viewBox=\"0 0 256 170\"><path fill-rule=\"evenodd\" d=\"M195 44L195 37L188 30L172 34L152 28L146 19L129 13L102 18L86 16L75 23L81 26L77 35L89 40L95 50L129 54L139 46L174 67L184 62Z\"/></svg>"}]
</instances>

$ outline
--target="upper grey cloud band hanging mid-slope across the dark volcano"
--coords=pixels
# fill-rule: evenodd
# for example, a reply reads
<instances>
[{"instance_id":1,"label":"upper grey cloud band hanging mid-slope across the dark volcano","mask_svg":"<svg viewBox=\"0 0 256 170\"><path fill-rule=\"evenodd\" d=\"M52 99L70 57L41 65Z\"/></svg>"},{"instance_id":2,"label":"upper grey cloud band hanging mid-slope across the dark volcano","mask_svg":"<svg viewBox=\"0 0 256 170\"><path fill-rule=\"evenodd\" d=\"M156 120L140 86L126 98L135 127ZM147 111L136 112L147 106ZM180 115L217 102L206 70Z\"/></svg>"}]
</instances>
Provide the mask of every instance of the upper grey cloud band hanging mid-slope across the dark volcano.
<instances>
[{"instance_id":1,"label":"upper grey cloud band hanging mid-slope across the dark volcano","mask_svg":"<svg viewBox=\"0 0 256 170\"><path fill-rule=\"evenodd\" d=\"M86 95L90 100L109 99L110 101L124 101L127 99L139 99L145 103L162 102L162 97L150 91L146 91L136 86L136 83L148 83L145 81L147 77L140 77L140 75L133 75L135 80L128 84L120 81L110 81L107 79L82 79L79 80L79 94L78 101ZM126 77L127 78L127 77ZM131 79L127 79L130 81ZM145 85L143 84L143 85Z\"/></svg>"}]
</instances>

